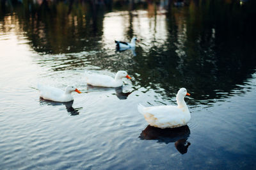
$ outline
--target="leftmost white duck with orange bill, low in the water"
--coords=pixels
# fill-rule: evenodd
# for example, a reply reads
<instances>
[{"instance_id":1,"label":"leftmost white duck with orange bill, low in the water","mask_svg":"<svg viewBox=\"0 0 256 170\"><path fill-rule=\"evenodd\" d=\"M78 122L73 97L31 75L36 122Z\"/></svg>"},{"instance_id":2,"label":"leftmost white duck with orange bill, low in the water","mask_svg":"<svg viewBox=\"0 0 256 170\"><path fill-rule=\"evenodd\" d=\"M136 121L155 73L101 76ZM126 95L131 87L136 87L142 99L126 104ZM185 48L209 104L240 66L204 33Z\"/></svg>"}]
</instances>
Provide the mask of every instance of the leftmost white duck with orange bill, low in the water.
<instances>
[{"instance_id":1,"label":"leftmost white duck with orange bill, low in the water","mask_svg":"<svg viewBox=\"0 0 256 170\"><path fill-rule=\"evenodd\" d=\"M40 97L54 102L70 102L74 100L71 95L73 91L81 93L75 86L67 86L66 90L63 91L58 88L38 84L38 89L40 91Z\"/></svg>"}]
</instances>

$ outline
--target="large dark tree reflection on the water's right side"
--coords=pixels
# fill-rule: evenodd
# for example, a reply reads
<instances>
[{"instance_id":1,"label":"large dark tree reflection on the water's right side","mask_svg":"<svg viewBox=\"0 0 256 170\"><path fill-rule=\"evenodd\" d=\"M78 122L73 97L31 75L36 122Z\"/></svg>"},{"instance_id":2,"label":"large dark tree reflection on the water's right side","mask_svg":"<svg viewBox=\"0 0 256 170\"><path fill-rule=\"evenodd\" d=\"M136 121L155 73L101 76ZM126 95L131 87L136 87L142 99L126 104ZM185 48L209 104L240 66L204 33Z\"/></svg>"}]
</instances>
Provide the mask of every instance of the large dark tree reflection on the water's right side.
<instances>
[{"instance_id":1,"label":"large dark tree reflection on the water's right side","mask_svg":"<svg viewBox=\"0 0 256 170\"><path fill-rule=\"evenodd\" d=\"M186 87L195 99L213 99L227 97L236 84L251 77L255 68L252 13L237 3L210 2L202 8L191 3L189 10L173 9L167 14L168 40L154 43L147 55L134 58L138 63L134 72L140 73L135 79L141 79L141 86L160 86L171 97Z\"/></svg>"}]
</instances>

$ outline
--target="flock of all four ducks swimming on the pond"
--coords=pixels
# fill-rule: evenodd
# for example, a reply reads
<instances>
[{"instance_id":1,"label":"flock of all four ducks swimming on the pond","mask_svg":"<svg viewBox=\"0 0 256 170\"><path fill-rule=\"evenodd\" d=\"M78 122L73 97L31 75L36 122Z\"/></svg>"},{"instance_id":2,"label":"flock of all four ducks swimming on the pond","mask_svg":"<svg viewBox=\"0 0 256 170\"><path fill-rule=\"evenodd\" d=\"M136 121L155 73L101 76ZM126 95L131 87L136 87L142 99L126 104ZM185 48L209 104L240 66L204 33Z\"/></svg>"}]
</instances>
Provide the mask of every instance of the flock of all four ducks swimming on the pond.
<instances>
[{"instance_id":1,"label":"flock of all four ducks swimming on the pond","mask_svg":"<svg viewBox=\"0 0 256 170\"><path fill-rule=\"evenodd\" d=\"M115 41L117 48L129 49L135 47L135 42L137 38L132 38L131 43L119 42ZM125 71L118 71L115 75L115 78L110 77L108 75L102 75L99 73L93 73L86 71L84 73L84 77L86 79L87 84L91 86L100 86L107 88L117 88L123 86L123 78L131 79ZM81 93L76 86L67 86L65 91L50 87L38 85L38 89L40 91L40 97L45 100L52 100L54 102L70 102L74 100L71 93L76 91L77 93ZM175 128L182 127L187 125L191 116L184 101L184 97L186 95L190 95L186 88L180 88L176 100L177 105L160 105L153 107L144 107L143 105L138 105L138 111L143 114L145 120L149 125L158 128Z\"/></svg>"}]
</instances>

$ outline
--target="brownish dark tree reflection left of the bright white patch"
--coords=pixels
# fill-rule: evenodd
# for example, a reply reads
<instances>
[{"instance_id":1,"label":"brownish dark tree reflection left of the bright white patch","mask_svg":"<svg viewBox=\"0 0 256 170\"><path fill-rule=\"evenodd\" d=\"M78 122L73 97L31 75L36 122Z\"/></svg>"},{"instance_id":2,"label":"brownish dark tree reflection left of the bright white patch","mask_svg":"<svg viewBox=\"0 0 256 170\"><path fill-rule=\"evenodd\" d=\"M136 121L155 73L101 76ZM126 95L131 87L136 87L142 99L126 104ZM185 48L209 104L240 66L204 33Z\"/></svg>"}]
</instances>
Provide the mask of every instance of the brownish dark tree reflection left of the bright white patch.
<instances>
[{"instance_id":1,"label":"brownish dark tree reflection left of the bright white patch","mask_svg":"<svg viewBox=\"0 0 256 170\"><path fill-rule=\"evenodd\" d=\"M31 47L41 54L80 52L98 45L102 35L102 9L90 3L32 1L17 5L19 26ZM69 3L68 3L69 2ZM29 6L29 8L25 8ZM99 46L99 45L98 45Z\"/></svg>"}]
</instances>

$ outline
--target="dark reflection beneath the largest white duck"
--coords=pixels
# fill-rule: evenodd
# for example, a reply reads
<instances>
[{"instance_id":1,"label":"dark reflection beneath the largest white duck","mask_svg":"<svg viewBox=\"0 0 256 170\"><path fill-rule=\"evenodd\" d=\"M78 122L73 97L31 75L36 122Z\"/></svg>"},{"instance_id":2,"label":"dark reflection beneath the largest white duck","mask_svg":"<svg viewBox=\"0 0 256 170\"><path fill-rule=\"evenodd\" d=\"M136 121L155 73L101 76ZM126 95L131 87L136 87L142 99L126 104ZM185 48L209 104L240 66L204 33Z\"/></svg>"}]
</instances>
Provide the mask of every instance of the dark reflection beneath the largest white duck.
<instances>
[{"instance_id":1,"label":"dark reflection beneath the largest white duck","mask_svg":"<svg viewBox=\"0 0 256 170\"><path fill-rule=\"evenodd\" d=\"M157 140L157 143L175 143L175 148L181 153L187 153L187 142L190 135L188 125L178 128L157 128L150 125L145 128L141 134L141 140Z\"/></svg>"}]
</instances>

